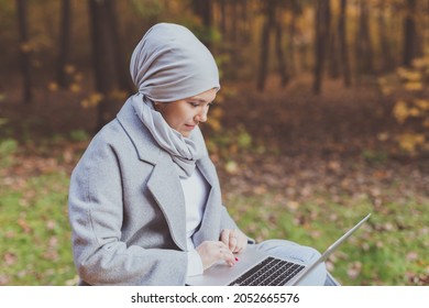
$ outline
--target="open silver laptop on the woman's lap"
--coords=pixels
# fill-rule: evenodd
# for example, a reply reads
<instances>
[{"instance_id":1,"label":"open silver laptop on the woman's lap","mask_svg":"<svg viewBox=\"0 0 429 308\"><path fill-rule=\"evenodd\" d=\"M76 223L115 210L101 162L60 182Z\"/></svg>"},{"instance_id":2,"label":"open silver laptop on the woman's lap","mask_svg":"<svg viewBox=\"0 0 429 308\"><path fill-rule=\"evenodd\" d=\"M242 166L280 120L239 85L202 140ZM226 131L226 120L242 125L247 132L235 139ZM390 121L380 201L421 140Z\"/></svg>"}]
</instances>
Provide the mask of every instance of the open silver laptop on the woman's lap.
<instances>
[{"instance_id":1,"label":"open silver laptop on the woman's lap","mask_svg":"<svg viewBox=\"0 0 429 308\"><path fill-rule=\"evenodd\" d=\"M248 246L244 253L238 255L239 262L234 266L228 266L224 262L217 263L202 275L188 277L186 284L190 286L311 285L310 274L315 268L324 262L370 216L371 213L345 232L312 264L304 265L295 260L278 258Z\"/></svg>"}]
</instances>

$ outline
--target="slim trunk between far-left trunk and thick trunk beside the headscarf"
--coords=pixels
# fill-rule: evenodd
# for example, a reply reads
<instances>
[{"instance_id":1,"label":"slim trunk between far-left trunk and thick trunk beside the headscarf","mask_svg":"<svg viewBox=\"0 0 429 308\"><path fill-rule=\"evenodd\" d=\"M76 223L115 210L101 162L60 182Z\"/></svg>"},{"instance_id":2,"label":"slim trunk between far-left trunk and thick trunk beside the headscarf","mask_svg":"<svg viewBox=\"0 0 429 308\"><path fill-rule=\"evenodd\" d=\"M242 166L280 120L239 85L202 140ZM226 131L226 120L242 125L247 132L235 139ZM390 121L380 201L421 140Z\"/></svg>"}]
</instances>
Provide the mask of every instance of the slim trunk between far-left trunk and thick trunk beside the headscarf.
<instances>
[{"instance_id":1,"label":"slim trunk between far-left trunk and thick trunk beside the headscarf","mask_svg":"<svg viewBox=\"0 0 429 308\"><path fill-rule=\"evenodd\" d=\"M59 54L58 54L58 67L57 67L57 82L59 87L66 88L69 84L66 74L66 65L69 63L70 55L70 19L72 6L70 0L62 0L62 13L61 13L61 34L59 34Z\"/></svg>"}]
</instances>

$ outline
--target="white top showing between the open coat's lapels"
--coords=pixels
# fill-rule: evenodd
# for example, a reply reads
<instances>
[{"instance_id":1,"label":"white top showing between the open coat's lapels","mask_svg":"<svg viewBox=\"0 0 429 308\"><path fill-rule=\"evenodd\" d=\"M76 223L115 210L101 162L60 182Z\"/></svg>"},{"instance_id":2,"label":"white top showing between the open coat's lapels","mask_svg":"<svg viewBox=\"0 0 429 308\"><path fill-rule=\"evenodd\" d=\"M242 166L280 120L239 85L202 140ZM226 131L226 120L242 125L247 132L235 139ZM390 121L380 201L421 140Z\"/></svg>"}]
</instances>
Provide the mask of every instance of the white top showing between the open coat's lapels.
<instances>
[{"instance_id":1,"label":"white top showing between the open coat's lapels","mask_svg":"<svg viewBox=\"0 0 429 308\"><path fill-rule=\"evenodd\" d=\"M180 178L180 184L186 205L188 276L191 276L204 272L201 258L194 246L193 235L201 223L210 187L198 168L195 168L190 177Z\"/></svg>"}]
</instances>

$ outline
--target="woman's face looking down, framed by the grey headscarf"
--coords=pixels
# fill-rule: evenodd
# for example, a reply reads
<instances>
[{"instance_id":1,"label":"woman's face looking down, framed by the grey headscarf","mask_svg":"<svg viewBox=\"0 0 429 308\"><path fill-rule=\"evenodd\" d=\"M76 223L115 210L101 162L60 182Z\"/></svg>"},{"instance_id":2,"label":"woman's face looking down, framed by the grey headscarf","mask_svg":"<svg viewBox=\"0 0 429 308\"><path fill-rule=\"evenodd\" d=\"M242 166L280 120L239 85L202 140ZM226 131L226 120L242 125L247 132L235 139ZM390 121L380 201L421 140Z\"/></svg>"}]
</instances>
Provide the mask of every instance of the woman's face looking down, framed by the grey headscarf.
<instances>
[{"instance_id":1,"label":"woman's face looking down, framed by the grey headscarf","mask_svg":"<svg viewBox=\"0 0 429 308\"><path fill-rule=\"evenodd\" d=\"M172 129L188 138L200 122L207 121L207 112L216 94L217 89L211 89L173 102L155 102L155 109L161 112Z\"/></svg>"}]
</instances>

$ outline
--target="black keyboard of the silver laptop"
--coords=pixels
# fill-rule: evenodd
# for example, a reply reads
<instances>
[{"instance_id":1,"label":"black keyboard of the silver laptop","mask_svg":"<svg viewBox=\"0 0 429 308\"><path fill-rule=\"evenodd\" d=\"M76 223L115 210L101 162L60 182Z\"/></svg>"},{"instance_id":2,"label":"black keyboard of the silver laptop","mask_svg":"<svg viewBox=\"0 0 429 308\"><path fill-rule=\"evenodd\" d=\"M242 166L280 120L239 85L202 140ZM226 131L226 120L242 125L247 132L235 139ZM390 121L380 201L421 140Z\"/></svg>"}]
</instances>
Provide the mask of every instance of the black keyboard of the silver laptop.
<instances>
[{"instance_id":1,"label":"black keyboard of the silver laptop","mask_svg":"<svg viewBox=\"0 0 429 308\"><path fill-rule=\"evenodd\" d=\"M268 256L233 280L230 286L283 286L302 268L300 264Z\"/></svg>"}]
</instances>

